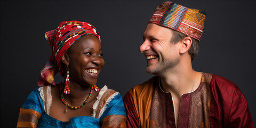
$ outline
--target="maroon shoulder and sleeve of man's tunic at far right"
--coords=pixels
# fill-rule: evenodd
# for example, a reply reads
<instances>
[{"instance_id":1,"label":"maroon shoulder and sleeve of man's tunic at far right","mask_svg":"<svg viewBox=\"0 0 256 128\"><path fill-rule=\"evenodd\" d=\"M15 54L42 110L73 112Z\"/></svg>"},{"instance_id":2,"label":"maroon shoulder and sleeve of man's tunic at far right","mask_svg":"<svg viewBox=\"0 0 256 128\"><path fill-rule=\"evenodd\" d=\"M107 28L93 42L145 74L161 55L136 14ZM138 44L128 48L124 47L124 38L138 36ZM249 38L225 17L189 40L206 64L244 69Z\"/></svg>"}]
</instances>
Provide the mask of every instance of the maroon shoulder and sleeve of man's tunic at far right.
<instances>
[{"instance_id":1,"label":"maroon shoulder and sleeve of man's tunic at far right","mask_svg":"<svg viewBox=\"0 0 256 128\"><path fill-rule=\"evenodd\" d=\"M212 75L211 127L254 127L247 101L239 87Z\"/></svg>"}]
</instances>

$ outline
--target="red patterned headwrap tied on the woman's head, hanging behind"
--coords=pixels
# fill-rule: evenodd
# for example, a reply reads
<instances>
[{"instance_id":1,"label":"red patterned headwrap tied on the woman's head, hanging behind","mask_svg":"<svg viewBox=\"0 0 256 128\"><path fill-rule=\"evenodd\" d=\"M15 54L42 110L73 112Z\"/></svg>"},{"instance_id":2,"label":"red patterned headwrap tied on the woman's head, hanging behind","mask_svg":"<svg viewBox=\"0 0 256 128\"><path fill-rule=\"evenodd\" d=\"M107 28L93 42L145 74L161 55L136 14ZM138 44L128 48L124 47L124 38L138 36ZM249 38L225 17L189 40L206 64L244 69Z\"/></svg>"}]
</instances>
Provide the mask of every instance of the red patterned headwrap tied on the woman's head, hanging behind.
<instances>
[{"instance_id":1,"label":"red patterned headwrap tied on the woman's head, hanging behind","mask_svg":"<svg viewBox=\"0 0 256 128\"><path fill-rule=\"evenodd\" d=\"M61 22L57 29L45 33L45 38L52 47L52 55L41 71L41 77L37 82L38 86L55 85L55 74L62 73L62 56L77 39L89 34L95 35L100 40L100 35L95 27L80 21Z\"/></svg>"}]
</instances>

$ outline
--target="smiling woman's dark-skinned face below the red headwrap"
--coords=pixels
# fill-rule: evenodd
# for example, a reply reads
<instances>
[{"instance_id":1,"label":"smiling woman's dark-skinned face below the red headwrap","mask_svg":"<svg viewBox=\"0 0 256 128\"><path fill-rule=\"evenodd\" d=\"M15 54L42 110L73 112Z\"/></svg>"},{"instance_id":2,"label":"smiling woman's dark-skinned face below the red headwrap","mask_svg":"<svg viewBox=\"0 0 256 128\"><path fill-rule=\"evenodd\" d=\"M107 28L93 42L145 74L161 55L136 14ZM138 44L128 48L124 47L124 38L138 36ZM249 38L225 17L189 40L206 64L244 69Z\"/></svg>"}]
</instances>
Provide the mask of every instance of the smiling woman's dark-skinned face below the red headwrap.
<instances>
[{"instance_id":1,"label":"smiling woman's dark-skinned face below the red headwrap","mask_svg":"<svg viewBox=\"0 0 256 128\"><path fill-rule=\"evenodd\" d=\"M71 83L94 85L105 64L99 39L94 35L79 38L69 47L69 78Z\"/></svg>"}]
</instances>

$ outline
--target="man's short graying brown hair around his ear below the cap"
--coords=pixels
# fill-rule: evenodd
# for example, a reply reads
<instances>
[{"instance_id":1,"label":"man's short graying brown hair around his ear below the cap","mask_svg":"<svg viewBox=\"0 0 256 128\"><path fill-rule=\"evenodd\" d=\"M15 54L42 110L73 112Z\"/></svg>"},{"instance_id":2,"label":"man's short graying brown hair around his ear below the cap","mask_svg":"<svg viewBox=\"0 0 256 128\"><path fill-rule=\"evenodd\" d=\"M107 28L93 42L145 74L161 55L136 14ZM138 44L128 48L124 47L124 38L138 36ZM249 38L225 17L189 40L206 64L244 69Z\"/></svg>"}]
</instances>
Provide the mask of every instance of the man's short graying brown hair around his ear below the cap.
<instances>
[{"instance_id":1,"label":"man's short graying brown hair around his ear below the cap","mask_svg":"<svg viewBox=\"0 0 256 128\"><path fill-rule=\"evenodd\" d=\"M171 42L174 43L174 44L178 43L179 41L181 41L185 37L189 37L185 34L180 33L179 31L172 30L172 32L173 32L173 37L172 37ZM196 57L196 55L199 51L199 42L194 38L191 38L191 39L192 39L192 44L191 44L191 46L188 50L188 53L191 57L191 61L193 61L193 59Z\"/></svg>"}]
</instances>

